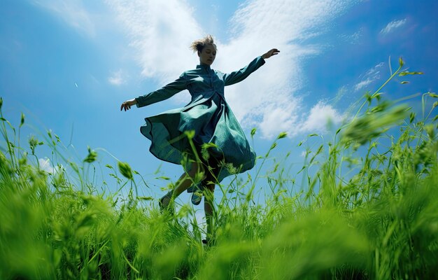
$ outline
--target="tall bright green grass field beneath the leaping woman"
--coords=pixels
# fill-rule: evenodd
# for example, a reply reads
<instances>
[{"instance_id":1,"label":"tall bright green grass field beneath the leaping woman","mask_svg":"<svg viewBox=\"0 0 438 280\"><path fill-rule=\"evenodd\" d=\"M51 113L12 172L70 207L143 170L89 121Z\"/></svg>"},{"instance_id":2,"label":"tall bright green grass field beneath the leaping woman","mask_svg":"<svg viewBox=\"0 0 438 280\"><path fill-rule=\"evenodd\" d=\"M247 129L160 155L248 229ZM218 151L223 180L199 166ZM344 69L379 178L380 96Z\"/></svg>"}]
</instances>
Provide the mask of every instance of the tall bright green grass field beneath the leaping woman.
<instances>
[{"instance_id":1,"label":"tall bright green grass field beneath the leaping woman","mask_svg":"<svg viewBox=\"0 0 438 280\"><path fill-rule=\"evenodd\" d=\"M400 59L388 82L418 74L402 67ZM59 138L20 147L24 116L16 139L0 104L0 279L435 279L438 102L427 112L425 99L438 96L423 94L418 118L380 90L365 94L332 141L308 151L299 174L281 164L264 174L266 202L253 202L265 184L260 170L285 134L258 159L254 178L220 186L210 247L194 209L160 214L153 197L139 196L147 182L125 162L107 166L118 192L128 192L124 201L87 179L91 149L83 162L64 159L73 174L43 172L36 147L62 157ZM303 191L293 192L299 176Z\"/></svg>"}]
</instances>

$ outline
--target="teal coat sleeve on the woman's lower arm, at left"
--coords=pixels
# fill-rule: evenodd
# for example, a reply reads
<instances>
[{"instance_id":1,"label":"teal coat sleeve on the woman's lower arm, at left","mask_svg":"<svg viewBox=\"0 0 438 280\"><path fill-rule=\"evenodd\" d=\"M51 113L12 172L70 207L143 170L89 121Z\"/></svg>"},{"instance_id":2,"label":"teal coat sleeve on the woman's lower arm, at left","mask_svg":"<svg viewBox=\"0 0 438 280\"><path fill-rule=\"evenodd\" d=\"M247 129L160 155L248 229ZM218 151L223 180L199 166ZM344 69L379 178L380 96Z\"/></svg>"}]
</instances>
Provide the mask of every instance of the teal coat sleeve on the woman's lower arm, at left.
<instances>
[{"instance_id":1,"label":"teal coat sleeve on the woman's lower arm, at left","mask_svg":"<svg viewBox=\"0 0 438 280\"><path fill-rule=\"evenodd\" d=\"M185 73L182 73L178 79L174 82L164 85L164 87L160 88L160 90L155 90L155 92L150 92L145 95L141 95L136 97L136 106L143 107L150 104L154 104L170 97L173 97L181 90L187 89L187 80L185 78Z\"/></svg>"}]
</instances>

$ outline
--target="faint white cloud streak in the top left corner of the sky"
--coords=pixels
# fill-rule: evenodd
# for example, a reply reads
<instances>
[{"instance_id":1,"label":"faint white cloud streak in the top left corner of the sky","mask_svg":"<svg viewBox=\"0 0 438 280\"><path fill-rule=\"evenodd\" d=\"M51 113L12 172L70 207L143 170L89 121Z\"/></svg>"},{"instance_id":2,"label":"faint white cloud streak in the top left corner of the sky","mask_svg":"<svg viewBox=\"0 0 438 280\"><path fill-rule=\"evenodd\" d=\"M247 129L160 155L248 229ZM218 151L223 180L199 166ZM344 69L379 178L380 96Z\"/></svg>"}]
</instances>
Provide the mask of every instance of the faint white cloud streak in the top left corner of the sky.
<instances>
[{"instance_id":1,"label":"faint white cloud streak in the top left corner of the sky","mask_svg":"<svg viewBox=\"0 0 438 280\"><path fill-rule=\"evenodd\" d=\"M48 10L58 18L64 20L67 25L77 29L80 33L94 36L95 27L90 14L83 6L81 0L31 0L38 6Z\"/></svg>"}]
</instances>

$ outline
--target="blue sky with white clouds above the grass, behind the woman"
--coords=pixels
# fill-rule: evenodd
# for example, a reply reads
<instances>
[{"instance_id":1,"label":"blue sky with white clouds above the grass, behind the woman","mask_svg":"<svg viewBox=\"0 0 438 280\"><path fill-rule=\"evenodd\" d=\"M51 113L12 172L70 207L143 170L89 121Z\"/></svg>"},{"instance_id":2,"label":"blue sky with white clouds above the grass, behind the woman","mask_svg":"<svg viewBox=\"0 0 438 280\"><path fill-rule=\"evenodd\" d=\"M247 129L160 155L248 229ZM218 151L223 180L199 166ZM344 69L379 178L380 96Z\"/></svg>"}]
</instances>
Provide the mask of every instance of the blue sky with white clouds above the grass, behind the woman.
<instances>
[{"instance_id":1,"label":"blue sky with white clouds above the grass, behind the woman","mask_svg":"<svg viewBox=\"0 0 438 280\"><path fill-rule=\"evenodd\" d=\"M393 68L402 56L406 68L424 75L406 85L396 78L383 90L386 98L436 92L437 11L437 1L408 0L2 0L3 113L16 126L25 114L23 146L29 134L43 139L38 135L52 130L73 145L73 159L83 160L90 146L101 165L114 165L104 148L151 186L163 186L154 179L158 167L172 180L182 169L154 158L139 127L146 116L184 106L190 94L128 112L120 104L194 68L197 55L188 45L213 34L212 67L224 72L270 48L281 50L225 95L248 137L257 127L255 151L266 153L278 133L288 132L273 155L291 152L299 169L305 148L297 148L299 141L324 134L327 118L339 124L348 117L353 102L388 78L389 57ZM420 101L410 105L419 111ZM44 147L37 152L41 160L51 158Z\"/></svg>"}]
</instances>

